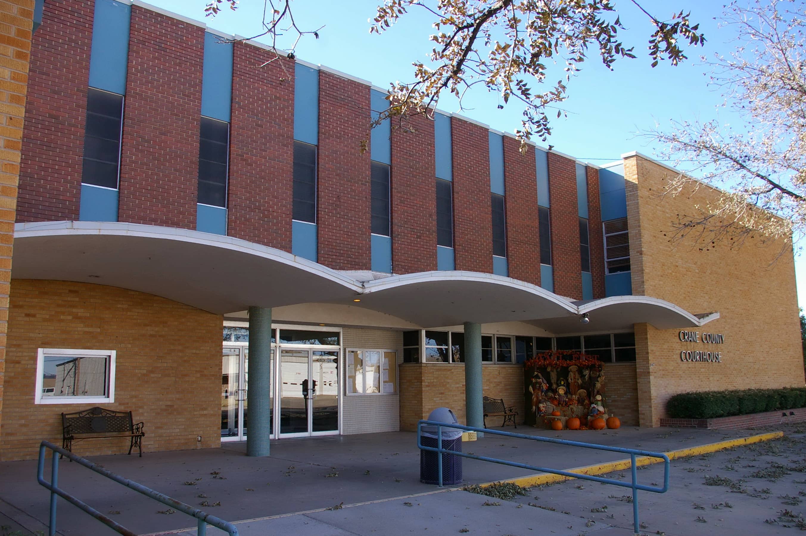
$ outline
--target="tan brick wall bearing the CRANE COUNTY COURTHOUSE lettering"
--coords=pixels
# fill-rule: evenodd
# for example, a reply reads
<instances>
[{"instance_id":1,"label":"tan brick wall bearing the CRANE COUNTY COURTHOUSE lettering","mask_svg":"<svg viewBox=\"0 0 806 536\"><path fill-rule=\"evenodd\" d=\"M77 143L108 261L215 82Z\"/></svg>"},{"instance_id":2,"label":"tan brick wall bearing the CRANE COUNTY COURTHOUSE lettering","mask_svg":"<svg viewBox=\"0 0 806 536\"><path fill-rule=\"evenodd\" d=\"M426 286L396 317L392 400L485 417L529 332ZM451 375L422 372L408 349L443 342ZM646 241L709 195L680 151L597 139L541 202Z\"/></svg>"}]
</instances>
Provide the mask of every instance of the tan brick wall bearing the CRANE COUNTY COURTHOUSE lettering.
<instances>
[{"instance_id":1,"label":"tan brick wall bearing the CRANE COUNTY COURTHOUSE lettering","mask_svg":"<svg viewBox=\"0 0 806 536\"><path fill-rule=\"evenodd\" d=\"M659 425L675 393L804 385L803 354L791 249L752 237L673 244L665 236L678 215L693 213L717 193L706 187L660 195L675 172L642 157L625 159L633 293L666 299L693 313L717 311L700 333L722 333L720 345L687 343L677 329L636 325L641 425ZM681 350L720 351L722 362L681 362Z\"/></svg>"}]
</instances>

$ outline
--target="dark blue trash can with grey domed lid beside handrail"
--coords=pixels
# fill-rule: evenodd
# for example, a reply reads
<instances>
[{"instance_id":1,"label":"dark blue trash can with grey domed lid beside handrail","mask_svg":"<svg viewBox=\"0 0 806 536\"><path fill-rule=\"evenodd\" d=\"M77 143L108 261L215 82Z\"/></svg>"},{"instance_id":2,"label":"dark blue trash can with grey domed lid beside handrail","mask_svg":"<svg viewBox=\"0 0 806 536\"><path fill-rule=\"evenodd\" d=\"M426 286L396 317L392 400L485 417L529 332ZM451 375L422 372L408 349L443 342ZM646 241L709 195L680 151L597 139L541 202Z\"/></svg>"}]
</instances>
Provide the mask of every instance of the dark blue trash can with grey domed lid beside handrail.
<instances>
[{"instance_id":1,"label":"dark blue trash can with grey domed lid beside handrail","mask_svg":"<svg viewBox=\"0 0 806 536\"><path fill-rule=\"evenodd\" d=\"M449 408L436 408L428 416L429 421L458 424L454 412ZM436 425L422 425L422 446L436 448L438 434ZM462 430L442 427L442 448L462 452ZM420 450L420 482L439 484L440 454L430 450ZM455 454L442 454L442 484L462 484L462 457Z\"/></svg>"}]
</instances>

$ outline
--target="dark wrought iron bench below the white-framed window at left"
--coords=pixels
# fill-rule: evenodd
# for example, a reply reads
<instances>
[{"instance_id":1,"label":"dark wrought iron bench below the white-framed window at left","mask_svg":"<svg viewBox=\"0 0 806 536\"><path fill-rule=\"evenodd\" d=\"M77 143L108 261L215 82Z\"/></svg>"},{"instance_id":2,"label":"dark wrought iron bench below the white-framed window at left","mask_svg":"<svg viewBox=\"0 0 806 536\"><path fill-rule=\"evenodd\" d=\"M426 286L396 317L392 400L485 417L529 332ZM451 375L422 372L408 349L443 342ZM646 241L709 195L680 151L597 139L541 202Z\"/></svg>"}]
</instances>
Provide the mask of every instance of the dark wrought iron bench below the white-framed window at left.
<instances>
[{"instance_id":1,"label":"dark wrought iron bench below the white-framed window at left","mask_svg":"<svg viewBox=\"0 0 806 536\"><path fill-rule=\"evenodd\" d=\"M73 452L73 442L82 439L131 438L129 454L135 446L143 457L143 423L132 424L131 412L111 409L85 409L82 412L62 413L62 447Z\"/></svg>"}]
</instances>

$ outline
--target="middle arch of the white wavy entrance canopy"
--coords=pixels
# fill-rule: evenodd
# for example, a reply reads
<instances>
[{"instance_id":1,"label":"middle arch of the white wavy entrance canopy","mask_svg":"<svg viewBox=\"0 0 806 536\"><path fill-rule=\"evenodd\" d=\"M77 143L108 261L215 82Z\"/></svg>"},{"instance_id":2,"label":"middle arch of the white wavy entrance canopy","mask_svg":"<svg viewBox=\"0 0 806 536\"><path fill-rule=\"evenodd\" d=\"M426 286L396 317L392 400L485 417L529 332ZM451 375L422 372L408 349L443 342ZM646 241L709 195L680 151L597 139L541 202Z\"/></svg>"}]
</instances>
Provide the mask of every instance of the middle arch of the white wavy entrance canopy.
<instances>
[{"instance_id":1,"label":"middle arch of the white wavy entrance canopy","mask_svg":"<svg viewBox=\"0 0 806 536\"><path fill-rule=\"evenodd\" d=\"M423 327L575 317L571 301L530 283L478 272L393 275L364 283L362 307Z\"/></svg>"}]
</instances>

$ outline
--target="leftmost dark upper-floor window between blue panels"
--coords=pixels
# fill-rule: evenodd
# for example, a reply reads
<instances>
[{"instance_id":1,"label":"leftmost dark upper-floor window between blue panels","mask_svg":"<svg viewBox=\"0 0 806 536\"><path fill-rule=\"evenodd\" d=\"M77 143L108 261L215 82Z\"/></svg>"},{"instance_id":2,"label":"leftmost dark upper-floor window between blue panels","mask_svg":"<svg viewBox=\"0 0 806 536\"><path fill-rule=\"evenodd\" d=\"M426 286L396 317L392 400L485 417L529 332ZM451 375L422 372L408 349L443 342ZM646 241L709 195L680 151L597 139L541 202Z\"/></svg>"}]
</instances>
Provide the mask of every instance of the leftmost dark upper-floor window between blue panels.
<instances>
[{"instance_id":1,"label":"leftmost dark upper-floor window between blue panels","mask_svg":"<svg viewBox=\"0 0 806 536\"><path fill-rule=\"evenodd\" d=\"M118 188L121 128L123 128L123 95L90 87L87 90L81 182L105 188Z\"/></svg>"}]
</instances>

